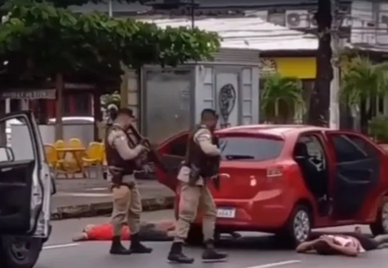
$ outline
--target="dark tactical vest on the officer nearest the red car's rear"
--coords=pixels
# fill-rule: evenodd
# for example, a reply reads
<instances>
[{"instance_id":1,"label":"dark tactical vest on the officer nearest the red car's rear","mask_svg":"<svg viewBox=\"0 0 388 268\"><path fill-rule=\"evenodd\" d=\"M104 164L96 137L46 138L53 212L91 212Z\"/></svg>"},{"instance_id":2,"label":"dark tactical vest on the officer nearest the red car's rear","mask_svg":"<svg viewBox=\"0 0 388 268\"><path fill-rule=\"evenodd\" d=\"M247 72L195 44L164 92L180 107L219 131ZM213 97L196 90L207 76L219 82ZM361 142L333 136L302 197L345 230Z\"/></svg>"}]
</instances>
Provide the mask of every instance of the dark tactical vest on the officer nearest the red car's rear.
<instances>
[{"instance_id":1,"label":"dark tactical vest on the officer nearest the red car's rear","mask_svg":"<svg viewBox=\"0 0 388 268\"><path fill-rule=\"evenodd\" d=\"M220 159L218 156L210 156L204 153L201 147L194 141L194 135L204 126L198 126L192 134L189 135L184 166L195 167L200 169L201 177L210 177L218 173ZM218 139L212 138L212 143L218 147Z\"/></svg>"}]
</instances>

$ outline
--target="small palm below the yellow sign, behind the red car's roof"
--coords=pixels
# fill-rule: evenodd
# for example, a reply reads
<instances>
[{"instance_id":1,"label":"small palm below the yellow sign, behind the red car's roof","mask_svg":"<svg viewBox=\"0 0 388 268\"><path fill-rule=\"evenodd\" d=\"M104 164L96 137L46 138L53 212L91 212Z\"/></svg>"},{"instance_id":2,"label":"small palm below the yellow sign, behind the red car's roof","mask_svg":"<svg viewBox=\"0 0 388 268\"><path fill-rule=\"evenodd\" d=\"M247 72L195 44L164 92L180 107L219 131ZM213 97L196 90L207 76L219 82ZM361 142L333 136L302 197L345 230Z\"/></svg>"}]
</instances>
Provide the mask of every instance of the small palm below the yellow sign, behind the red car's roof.
<instances>
[{"instance_id":1,"label":"small palm below the yellow sign, behind the red car's roof","mask_svg":"<svg viewBox=\"0 0 388 268\"><path fill-rule=\"evenodd\" d=\"M273 123L293 121L295 113L305 112L302 82L279 73L266 77L261 90L260 105L263 116Z\"/></svg>"}]
</instances>

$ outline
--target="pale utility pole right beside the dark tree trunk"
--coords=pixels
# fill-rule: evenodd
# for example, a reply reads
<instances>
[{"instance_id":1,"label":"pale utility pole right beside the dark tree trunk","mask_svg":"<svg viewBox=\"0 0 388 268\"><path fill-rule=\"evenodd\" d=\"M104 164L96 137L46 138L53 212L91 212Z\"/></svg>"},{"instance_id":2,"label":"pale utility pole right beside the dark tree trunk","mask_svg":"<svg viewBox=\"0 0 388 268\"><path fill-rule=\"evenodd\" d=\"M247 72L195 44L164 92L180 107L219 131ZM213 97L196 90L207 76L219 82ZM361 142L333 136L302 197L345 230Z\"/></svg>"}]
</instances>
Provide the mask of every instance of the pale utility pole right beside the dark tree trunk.
<instances>
[{"instance_id":1,"label":"pale utility pole right beside the dark tree trunk","mask_svg":"<svg viewBox=\"0 0 388 268\"><path fill-rule=\"evenodd\" d=\"M331 3L331 66L333 68L333 79L330 83L330 104L329 104L329 127L339 129L339 88L340 88L340 52L342 50L339 28L341 27L341 17L339 14L338 0L330 0Z\"/></svg>"}]
</instances>

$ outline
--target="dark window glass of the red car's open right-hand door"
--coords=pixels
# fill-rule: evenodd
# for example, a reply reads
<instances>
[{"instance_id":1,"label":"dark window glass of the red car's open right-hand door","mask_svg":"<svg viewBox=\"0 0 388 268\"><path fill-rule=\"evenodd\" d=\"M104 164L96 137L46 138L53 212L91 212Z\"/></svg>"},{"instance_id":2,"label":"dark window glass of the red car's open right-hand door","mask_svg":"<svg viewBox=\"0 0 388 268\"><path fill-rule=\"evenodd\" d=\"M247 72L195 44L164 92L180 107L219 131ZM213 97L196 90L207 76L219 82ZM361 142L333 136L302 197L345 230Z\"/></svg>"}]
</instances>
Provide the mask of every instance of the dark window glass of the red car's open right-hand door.
<instances>
[{"instance_id":1,"label":"dark window glass of the red car's open right-hand door","mask_svg":"<svg viewBox=\"0 0 388 268\"><path fill-rule=\"evenodd\" d=\"M334 150L337 162L350 162L371 157L363 148L362 141L348 134L333 135ZM365 142L365 141L364 141Z\"/></svg>"}]
</instances>

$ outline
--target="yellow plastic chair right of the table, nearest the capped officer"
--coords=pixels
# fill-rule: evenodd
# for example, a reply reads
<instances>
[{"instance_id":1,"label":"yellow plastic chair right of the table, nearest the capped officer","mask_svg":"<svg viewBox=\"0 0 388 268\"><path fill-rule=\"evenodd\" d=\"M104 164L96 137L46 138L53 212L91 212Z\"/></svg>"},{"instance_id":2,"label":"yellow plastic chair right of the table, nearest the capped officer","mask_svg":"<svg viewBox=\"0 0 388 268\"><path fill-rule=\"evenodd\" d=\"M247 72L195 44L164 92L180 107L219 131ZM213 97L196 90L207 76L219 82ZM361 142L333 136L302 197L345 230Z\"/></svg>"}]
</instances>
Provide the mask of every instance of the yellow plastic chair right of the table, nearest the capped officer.
<instances>
[{"instance_id":1,"label":"yellow plastic chair right of the table, nearest the capped officer","mask_svg":"<svg viewBox=\"0 0 388 268\"><path fill-rule=\"evenodd\" d=\"M90 169L92 167L97 168L97 177L102 175L102 162L104 158L104 146L100 142L91 142L89 143L88 148L86 149L85 155L82 157L82 174L85 174L87 169L87 174L90 178Z\"/></svg>"}]
</instances>

